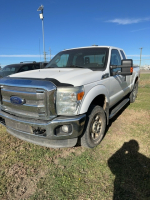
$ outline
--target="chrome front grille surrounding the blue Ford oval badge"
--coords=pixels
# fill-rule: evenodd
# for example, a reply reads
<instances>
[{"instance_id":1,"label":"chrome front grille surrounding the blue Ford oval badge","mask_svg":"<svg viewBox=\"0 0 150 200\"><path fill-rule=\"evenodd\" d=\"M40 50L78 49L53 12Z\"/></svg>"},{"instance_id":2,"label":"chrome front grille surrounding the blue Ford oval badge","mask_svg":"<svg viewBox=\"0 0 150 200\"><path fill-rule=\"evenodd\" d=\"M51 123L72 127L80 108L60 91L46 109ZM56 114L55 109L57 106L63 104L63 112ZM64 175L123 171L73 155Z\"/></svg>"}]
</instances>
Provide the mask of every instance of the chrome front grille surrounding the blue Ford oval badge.
<instances>
[{"instance_id":1,"label":"chrome front grille surrounding the blue Ford oval badge","mask_svg":"<svg viewBox=\"0 0 150 200\"><path fill-rule=\"evenodd\" d=\"M27 85L27 87L23 87L23 85L13 86L13 83L12 85L1 85L1 110L24 118L45 120L53 118L56 115L55 90L53 87L46 89L43 82L39 81L37 84L35 81L34 86ZM49 82L49 84L52 83ZM41 88L42 85L44 88ZM23 105L13 104L10 101L12 96L24 99L25 103Z\"/></svg>"}]
</instances>

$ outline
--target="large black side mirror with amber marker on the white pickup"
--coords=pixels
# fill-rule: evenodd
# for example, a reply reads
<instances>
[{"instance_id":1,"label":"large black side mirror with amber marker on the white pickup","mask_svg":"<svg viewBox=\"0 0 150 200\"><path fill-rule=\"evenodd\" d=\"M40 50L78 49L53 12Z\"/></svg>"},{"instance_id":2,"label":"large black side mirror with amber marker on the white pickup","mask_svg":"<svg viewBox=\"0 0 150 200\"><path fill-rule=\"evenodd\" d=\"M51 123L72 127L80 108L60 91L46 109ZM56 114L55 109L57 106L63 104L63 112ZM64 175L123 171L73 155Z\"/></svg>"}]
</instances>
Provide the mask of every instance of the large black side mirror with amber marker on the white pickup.
<instances>
[{"instance_id":1,"label":"large black side mirror with amber marker on the white pickup","mask_svg":"<svg viewBox=\"0 0 150 200\"><path fill-rule=\"evenodd\" d=\"M132 59L125 59L121 61L121 65L119 66L111 66L111 69L121 68L120 71L112 72L112 75L132 75L133 73L133 60Z\"/></svg>"}]
</instances>

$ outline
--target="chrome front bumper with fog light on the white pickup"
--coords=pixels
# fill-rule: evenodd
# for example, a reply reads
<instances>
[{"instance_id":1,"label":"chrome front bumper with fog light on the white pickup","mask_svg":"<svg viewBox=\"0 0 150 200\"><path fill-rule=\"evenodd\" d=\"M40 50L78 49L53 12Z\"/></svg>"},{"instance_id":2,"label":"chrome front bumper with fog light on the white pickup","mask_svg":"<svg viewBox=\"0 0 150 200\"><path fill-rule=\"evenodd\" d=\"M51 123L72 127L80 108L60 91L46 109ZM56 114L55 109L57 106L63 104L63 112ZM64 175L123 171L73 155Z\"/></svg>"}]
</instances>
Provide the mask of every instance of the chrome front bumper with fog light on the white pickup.
<instances>
[{"instance_id":1,"label":"chrome front bumper with fog light on the white pickup","mask_svg":"<svg viewBox=\"0 0 150 200\"><path fill-rule=\"evenodd\" d=\"M86 115L57 117L51 121L29 120L0 111L0 123L13 136L22 140L52 148L72 147L83 132ZM58 133L63 125L69 125L69 133ZM58 134L56 134L56 132Z\"/></svg>"}]
</instances>

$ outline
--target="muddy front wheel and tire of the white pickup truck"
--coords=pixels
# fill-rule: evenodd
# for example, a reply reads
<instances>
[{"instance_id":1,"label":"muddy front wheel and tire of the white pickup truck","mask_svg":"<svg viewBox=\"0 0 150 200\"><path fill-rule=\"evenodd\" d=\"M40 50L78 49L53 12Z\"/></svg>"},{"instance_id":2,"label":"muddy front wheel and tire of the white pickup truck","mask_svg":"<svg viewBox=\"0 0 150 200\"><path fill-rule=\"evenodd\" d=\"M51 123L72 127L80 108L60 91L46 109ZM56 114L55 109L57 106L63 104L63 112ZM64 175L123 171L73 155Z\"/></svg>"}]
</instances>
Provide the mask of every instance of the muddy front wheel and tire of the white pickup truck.
<instances>
[{"instance_id":1,"label":"muddy front wheel and tire of the white pickup truck","mask_svg":"<svg viewBox=\"0 0 150 200\"><path fill-rule=\"evenodd\" d=\"M97 146L105 134L106 115L102 107L91 106L86 119L81 145L87 148Z\"/></svg>"}]
</instances>

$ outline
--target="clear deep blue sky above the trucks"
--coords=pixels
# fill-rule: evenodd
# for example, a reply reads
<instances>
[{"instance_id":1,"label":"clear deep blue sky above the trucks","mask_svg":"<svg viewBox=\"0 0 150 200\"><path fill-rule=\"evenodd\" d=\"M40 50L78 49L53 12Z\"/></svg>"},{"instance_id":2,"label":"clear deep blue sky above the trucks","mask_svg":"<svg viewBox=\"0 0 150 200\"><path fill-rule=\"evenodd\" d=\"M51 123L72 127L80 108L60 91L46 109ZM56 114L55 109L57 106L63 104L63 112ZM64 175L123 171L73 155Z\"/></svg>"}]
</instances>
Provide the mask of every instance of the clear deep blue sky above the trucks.
<instances>
[{"instance_id":1,"label":"clear deep blue sky above the trucks","mask_svg":"<svg viewBox=\"0 0 150 200\"><path fill-rule=\"evenodd\" d=\"M128 58L150 65L150 0L0 0L0 65L43 60L51 54L92 44L123 48ZM40 56L41 55L41 56ZM137 61L136 61L137 60Z\"/></svg>"}]
</instances>

